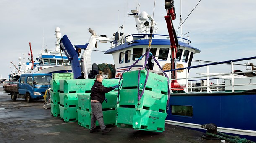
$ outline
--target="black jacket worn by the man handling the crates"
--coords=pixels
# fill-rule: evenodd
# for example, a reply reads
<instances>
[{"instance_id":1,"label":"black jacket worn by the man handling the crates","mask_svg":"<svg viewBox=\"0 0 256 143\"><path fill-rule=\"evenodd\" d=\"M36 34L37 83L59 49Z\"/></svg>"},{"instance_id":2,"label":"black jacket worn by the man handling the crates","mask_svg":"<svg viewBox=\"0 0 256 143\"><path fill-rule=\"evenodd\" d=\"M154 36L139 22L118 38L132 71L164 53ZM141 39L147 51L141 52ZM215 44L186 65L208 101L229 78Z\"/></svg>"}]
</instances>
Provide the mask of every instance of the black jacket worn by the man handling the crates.
<instances>
[{"instance_id":1,"label":"black jacket worn by the man handling the crates","mask_svg":"<svg viewBox=\"0 0 256 143\"><path fill-rule=\"evenodd\" d=\"M113 90L112 87L107 88L104 85L102 85L102 82L95 80L91 88L91 99L103 103L105 99L105 93L111 90Z\"/></svg>"}]
</instances>

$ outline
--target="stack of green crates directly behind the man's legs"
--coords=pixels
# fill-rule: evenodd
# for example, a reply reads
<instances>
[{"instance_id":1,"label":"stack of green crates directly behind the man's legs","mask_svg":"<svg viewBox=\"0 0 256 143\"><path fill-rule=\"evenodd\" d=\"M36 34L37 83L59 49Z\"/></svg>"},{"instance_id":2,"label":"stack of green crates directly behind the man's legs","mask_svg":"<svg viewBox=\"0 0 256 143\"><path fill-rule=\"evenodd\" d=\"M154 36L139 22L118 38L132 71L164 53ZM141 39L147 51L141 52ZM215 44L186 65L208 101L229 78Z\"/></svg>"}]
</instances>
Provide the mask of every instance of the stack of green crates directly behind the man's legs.
<instances>
[{"instance_id":1,"label":"stack of green crates directly behind the man's legs","mask_svg":"<svg viewBox=\"0 0 256 143\"><path fill-rule=\"evenodd\" d=\"M105 85L106 86L106 85ZM91 96L90 93L78 94L78 125L82 127L91 128ZM102 110L104 116L105 125L116 125L117 116L117 92L106 93L107 103L104 101L102 103ZM96 121L96 126L99 126L98 121Z\"/></svg>"}]
</instances>

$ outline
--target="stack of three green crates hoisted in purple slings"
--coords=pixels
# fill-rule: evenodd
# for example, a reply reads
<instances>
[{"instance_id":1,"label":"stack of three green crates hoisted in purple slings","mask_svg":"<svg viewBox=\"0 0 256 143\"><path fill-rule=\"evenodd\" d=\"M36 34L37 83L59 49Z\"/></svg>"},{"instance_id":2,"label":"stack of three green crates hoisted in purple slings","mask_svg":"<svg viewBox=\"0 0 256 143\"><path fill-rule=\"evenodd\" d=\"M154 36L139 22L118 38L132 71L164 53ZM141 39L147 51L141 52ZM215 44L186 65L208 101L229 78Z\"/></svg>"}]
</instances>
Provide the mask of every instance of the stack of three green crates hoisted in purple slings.
<instances>
[{"instance_id":1,"label":"stack of three green crates hoisted in purple slings","mask_svg":"<svg viewBox=\"0 0 256 143\"><path fill-rule=\"evenodd\" d=\"M141 72L139 81L138 72ZM118 127L155 132L165 130L168 79L149 72L147 83L144 85L147 72L141 70L123 73L117 117ZM144 86L146 87L139 101L138 85L140 94Z\"/></svg>"}]
</instances>

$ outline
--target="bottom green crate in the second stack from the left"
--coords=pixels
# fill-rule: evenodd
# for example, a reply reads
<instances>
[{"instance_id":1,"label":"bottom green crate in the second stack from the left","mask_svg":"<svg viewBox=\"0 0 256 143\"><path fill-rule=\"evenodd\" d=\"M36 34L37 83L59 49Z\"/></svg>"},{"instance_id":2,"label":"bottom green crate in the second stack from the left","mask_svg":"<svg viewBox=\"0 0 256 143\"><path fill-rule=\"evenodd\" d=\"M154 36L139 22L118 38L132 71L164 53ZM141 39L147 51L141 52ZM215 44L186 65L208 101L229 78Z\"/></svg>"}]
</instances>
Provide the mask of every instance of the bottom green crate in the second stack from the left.
<instances>
[{"instance_id":1,"label":"bottom green crate in the second stack from the left","mask_svg":"<svg viewBox=\"0 0 256 143\"><path fill-rule=\"evenodd\" d=\"M64 122L76 122L78 120L77 107L65 108L62 105L60 107L60 118Z\"/></svg>"}]
</instances>

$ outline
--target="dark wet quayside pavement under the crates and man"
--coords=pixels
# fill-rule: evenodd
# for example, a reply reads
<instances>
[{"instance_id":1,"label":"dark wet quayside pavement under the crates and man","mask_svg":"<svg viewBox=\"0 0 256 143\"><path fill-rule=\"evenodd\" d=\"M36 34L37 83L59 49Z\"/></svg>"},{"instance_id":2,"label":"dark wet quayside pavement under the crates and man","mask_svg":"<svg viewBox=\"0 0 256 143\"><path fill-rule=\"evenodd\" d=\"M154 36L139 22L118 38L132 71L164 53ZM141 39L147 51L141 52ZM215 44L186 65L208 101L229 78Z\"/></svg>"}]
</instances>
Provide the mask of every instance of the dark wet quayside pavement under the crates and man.
<instances>
[{"instance_id":1,"label":"dark wet quayside pavement under the crates and man","mask_svg":"<svg viewBox=\"0 0 256 143\"><path fill-rule=\"evenodd\" d=\"M118 127L107 135L89 133L78 122L53 117L50 109L43 108L44 100L12 101L0 89L0 143L221 143L202 139L202 132L168 124L162 133Z\"/></svg>"}]
</instances>

